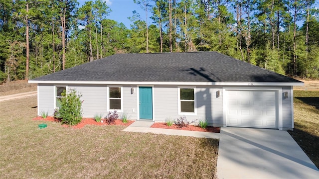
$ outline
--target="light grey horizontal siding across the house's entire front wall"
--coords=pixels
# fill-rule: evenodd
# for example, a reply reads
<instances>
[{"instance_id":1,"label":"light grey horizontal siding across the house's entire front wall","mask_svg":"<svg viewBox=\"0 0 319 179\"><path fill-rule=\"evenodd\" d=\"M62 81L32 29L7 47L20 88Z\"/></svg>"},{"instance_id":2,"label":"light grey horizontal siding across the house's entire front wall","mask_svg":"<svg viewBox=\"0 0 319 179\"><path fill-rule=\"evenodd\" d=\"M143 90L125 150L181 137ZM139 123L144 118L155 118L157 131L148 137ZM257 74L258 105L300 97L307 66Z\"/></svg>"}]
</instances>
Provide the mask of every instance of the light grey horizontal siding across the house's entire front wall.
<instances>
[{"instance_id":1,"label":"light grey horizontal siding across the house's entire front wall","mask_svg":"<svg viewBox=\"0 0 319 179\"><path fill-rule=\"evenodd\" d=\"M195 86L194 86L195 87ZM131 94L131 88L134 88ZM123 111L129 119L137 119L138 116L138 93L137 86L123 86ZM38 108L39 112L48 111L53 115L54 111L54 85L38 85ZM94 117L95 114L107 115L107 85L68 85L68 89L76 89L82 93L83 117ZM292 127L292 104L291 87L282 87L282 92L288 91L289 97L282 99L283 128ZM216 96L216 91L221 91L221 96ZM223 88L220 86L197 86L196 106L197 115L186 115L187 120L206 119L213 126L223 124ZM154 93L154 116L155 121L165 121L165 119L176 119L178 115L178 90L177 86L155 85ZM40 115L40 114L38 114ZM121 115L121 112L119 112ZM198 122L198 120L196 122Z\"/></svg>"}]
</instances>

